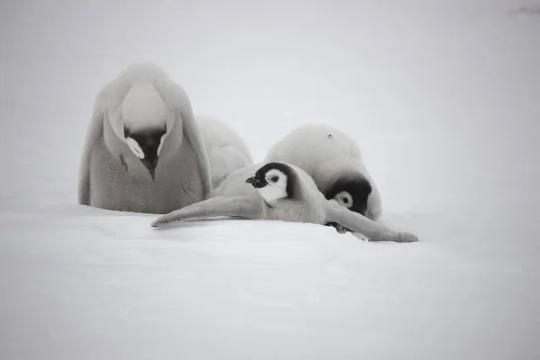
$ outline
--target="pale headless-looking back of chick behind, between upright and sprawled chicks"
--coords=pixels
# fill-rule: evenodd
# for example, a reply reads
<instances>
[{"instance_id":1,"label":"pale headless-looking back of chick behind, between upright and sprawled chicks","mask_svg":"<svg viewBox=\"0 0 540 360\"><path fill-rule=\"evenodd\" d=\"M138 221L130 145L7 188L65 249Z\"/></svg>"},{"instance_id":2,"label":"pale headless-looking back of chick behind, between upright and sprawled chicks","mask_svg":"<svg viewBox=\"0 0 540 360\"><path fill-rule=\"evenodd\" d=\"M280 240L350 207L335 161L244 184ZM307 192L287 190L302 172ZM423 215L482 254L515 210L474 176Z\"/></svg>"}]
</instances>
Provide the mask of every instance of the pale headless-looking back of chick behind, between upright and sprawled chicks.
<instances>
[{"instance_id":1,"label":"pale headless-looking back of chick behind, between upright and sprawled chicks","mask_svg":"<svg viewBox=\"0 0 540 360\"><path fill-rule=\"evenodd\" d=\"M253 164L246 142L225 122L210 116L197 116L197 122L210 161L213 188L234 170Z\"/></svg>"}]
</instances>

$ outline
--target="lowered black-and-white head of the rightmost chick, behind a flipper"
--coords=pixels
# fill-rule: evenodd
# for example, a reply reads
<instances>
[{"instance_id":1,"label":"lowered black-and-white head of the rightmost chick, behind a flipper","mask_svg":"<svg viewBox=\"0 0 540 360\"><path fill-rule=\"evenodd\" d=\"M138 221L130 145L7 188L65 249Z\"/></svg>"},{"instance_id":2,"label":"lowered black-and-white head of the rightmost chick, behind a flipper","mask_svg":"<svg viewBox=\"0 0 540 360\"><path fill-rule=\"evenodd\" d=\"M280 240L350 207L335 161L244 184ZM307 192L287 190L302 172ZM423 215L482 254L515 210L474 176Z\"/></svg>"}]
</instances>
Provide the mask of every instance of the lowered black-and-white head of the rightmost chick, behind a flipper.
<instances>
[{"instance_id":1,"label":"lowered black-and-white head of the rightmost chick, behind a flipper","mask_svg":"<svg viewBox=\"0 0 540 360\"><path fill-rule=\"evenodd\" d=\"M350 211L365 215L367 200L373 189L369 181L361 174L341 175L324 192L329 200L337 201Z\"/></svg>"}]
</instances>

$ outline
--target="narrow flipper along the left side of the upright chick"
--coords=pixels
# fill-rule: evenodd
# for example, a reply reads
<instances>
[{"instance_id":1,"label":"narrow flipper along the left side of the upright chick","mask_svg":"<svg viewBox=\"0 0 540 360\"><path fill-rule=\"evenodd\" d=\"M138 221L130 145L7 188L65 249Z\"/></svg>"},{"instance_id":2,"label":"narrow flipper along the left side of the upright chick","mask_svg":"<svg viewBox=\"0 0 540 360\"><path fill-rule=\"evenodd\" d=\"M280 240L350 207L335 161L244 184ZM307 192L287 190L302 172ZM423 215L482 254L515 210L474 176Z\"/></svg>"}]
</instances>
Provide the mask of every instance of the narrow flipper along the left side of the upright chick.
<instances>
[{"instance_id":1,"label":"narrow flipper along the left side of the upright chick","mask_svg":"<svg viewBox=\"0 0 540 360\"><path fill-rule=\"evenodd\" d=\"M90 157L94 142L103 135L103 112L94 108L92 119L86 130L85 145L79 167L78 203L91 205L90 199Z\"/></svg>"}]
</instances>

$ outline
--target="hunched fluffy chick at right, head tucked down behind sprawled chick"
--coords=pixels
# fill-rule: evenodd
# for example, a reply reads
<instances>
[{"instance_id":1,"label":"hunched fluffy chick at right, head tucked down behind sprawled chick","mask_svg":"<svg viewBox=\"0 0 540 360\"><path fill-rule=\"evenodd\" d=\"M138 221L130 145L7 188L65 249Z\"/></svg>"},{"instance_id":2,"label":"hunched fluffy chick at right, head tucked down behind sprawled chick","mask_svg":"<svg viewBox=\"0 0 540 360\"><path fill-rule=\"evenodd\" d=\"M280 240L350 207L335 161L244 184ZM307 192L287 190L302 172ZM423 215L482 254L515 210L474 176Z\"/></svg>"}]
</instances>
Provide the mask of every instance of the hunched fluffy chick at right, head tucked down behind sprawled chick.
<instances>
[{"instance_id":1,"label":"hunched fluffy chick at right, head tucked down behind sprawled chick","mask_svg":"<svg viewBox=\"0 0 540 360\"><path fill-rule=\"evenodd\" d=\"M323 124L296 128L275 143L265 161L293 164L311 175L327 199L378 220L381 195L362 161L360 148L341 130Z\"/></svg>"}]
</instances>

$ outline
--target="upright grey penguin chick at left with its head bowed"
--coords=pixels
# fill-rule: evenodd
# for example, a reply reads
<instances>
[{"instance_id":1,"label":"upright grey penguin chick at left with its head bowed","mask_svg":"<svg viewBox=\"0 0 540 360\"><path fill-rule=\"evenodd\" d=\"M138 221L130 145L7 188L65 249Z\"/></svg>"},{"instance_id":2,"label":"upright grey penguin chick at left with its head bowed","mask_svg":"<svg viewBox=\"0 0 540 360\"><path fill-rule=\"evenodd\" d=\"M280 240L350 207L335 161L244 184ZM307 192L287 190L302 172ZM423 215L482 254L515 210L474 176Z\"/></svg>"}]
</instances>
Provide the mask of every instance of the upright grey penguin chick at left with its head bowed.
<instances>
[{"instance_id":1,"label":"upright grey penguin chick at left with its head bowed","mask_svg":"<svg viewBox=\"0 0 540 360\"><path fill-rule=\"evenodd\" d=\"M166 213L210 192L208 156L184 89L154 64L125 68L96 97L78 202Z\"/></svg>"}]
</instances>

